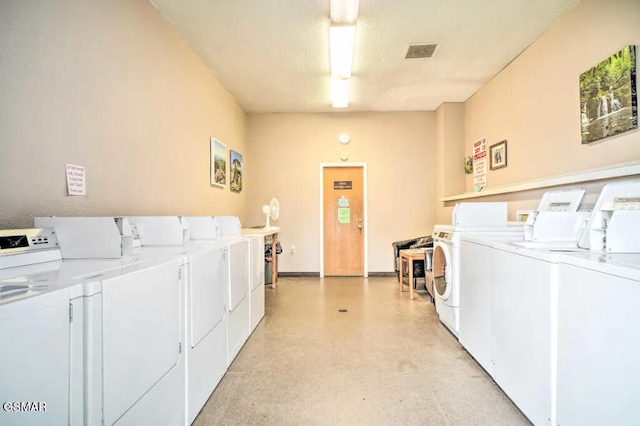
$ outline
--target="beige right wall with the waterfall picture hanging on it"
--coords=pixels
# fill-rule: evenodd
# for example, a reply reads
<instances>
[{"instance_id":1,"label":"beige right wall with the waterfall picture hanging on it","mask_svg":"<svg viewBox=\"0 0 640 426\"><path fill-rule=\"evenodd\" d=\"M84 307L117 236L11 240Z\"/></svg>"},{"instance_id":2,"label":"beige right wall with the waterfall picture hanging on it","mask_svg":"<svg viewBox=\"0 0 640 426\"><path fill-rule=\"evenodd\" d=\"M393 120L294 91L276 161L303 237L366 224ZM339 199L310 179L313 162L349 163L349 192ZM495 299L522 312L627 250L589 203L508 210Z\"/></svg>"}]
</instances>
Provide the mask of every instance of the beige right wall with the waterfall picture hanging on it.
<instances>
[{"instance_id":1,"label":"beige right wall with the waterfall picture hanging on it","mask_svg":"<svg viewBox=\"0 0 640 426\"><path fill-rule=\"evenodd\" d=\"M465 151L481 137L488 145L508 141L508 166L488 172L487 188L640 159L637 130L590 145L580 140L579 75L631 44L640 44L640 2L582 0L472 96L465 104ZM472 187L469 175L466 191ZM539 192L491 198L513 201L515 218L516 208L535 207ZM438 203L438 217L450 216L448 204Z\"/></svg>"}]
</instances>

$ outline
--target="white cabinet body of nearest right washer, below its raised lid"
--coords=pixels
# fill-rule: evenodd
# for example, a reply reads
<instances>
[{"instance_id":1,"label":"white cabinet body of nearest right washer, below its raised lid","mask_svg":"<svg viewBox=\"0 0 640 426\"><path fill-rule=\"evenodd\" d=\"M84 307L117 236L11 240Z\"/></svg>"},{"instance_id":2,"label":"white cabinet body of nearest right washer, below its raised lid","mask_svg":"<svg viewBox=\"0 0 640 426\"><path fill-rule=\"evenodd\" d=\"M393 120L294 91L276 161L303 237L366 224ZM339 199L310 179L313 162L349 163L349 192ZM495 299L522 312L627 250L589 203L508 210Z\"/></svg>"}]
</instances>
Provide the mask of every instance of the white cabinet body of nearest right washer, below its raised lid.
<instances>
[{"instance_id":1,"label":"white cabinet body of nearest right washer, below its raised lid","mask_svg":"<svg viewBox=\"0 0 640 426\"><path fill-rule=\"evenodd\" d=\"M557 424L636 424L640 253L565 254L559 276Z\"/></svg>"}]
</instances>

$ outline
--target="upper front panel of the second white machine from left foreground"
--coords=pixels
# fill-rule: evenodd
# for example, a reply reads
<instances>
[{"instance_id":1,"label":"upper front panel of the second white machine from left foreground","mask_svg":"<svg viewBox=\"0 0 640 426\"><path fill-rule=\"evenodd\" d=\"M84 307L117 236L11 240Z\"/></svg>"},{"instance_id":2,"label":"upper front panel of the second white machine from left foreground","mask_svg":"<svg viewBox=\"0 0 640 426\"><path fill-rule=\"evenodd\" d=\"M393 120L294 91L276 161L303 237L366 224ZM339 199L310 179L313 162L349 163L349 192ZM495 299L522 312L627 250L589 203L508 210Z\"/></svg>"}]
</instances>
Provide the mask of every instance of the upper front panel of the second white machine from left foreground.
<instances>
[{"instance_id":1,"label":"upper front panel of the second white machine from left foreground","mask_svg":"<svg viewBox=\"0 0 640 426\"><path fill-rule=\"evenodd\" d=\"M121 417L145 396L157 398L150 390L180 361L179 270L166 262L102 281L102 364L92 375L104 380L103 424L127 423Z\"/></svg>"}]
</instances>

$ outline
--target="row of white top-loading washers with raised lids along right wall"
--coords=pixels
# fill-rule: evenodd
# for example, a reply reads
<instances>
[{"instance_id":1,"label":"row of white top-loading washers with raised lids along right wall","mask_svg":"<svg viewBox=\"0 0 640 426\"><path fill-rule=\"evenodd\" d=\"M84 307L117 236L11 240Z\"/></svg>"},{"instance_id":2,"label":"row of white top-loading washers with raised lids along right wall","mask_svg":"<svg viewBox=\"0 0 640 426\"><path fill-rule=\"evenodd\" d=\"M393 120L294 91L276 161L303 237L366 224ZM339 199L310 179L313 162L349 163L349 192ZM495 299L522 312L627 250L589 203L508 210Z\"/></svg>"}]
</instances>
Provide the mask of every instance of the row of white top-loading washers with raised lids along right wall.
<instances>
[{"instance_id":1,"label":"row of white top-loading washers with raised lids along right wall","mask_svg":"<svg viewBox=\"0 0 640 426\"><path fill-rule=\"evenodd\" d=\"M640 182L588 214L581 190L552 195L528 241L462 237L460 343L536 425L635 424Z\"/></svg>"}]
</instances>

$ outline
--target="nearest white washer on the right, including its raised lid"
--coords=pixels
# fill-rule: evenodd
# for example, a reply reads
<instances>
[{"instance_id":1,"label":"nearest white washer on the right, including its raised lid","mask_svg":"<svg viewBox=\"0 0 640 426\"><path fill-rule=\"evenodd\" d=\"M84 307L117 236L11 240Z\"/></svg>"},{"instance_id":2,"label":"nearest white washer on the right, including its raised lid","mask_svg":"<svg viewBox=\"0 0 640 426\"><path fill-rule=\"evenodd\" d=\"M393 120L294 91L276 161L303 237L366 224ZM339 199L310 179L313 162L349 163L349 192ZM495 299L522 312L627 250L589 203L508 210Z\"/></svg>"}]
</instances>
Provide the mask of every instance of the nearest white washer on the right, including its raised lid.
<instances>
[{"instance_id":1,"label":"nearest white washer on the right, including its raised lid","mask_svg":"<svg viewBox=\"0 0 640 426\"><path fill-rule=\"evenodd\" d=\"M557 423L635 424L640 370L640 181L603 187L559 265Z\"/></svg>"}]
</instances>

